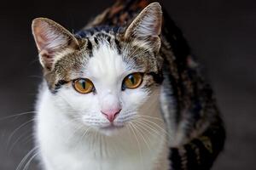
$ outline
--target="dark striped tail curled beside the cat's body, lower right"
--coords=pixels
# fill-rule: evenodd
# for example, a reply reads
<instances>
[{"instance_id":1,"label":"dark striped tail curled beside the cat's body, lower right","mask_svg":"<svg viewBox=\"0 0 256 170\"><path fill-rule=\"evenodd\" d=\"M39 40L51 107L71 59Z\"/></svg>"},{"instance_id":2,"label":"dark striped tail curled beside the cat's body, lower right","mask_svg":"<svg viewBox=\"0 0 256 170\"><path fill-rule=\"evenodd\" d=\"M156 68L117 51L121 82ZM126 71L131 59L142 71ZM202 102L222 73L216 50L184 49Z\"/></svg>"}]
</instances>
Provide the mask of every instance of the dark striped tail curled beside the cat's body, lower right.
<instances>
[{"instance_id":1,"label":"dark striped tail curled beside the cat's body, lower right","mask_svg":"<svg viewBox=\"0 0 256 170\"><path fill-rule=\"evenodd\" d=\"M218 150L223 150L224 145L224 127L218 125L219 129L210 127L206 133L203 133L198 139L193 139L189 144L181 148L172 148L170 159L171 169L180 170L207 170L212 167L214 159L218 156ZM210 144L210 145L207 145ZM178 150L185 150L180 154ZM183 161L185 161L185 166Z\"/></svg>"}]
</instances>

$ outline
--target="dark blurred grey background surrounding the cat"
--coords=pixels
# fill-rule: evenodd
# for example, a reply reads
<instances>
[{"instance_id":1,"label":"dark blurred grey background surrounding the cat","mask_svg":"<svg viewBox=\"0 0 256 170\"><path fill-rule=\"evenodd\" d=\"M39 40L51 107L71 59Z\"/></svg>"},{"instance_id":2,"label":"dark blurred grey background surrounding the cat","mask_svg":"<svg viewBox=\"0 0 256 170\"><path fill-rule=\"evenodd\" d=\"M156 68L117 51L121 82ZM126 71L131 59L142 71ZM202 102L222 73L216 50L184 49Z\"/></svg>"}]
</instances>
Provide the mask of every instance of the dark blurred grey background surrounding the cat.
<instances>
[{"instance_id":1,"label":"dark blurred grey background surrounding the cat","mask_svg":"<svg viewBox=\"0 0 256 170\"><path fill-rule=\"evenodd\" d=\"M32 150L33 106L41 67L31 22L47 17L79 31L113 0L0 3L0 169L14 170ZM227 128L213 170L256 169L256 2L163 0L204 65ZM21 114L20 116L12 116ZM12 117L8 117L12 116ZM29 161L29 159L28 159ZM36 170L32 161L28 169Z\"/></svg>"}]
</instances>

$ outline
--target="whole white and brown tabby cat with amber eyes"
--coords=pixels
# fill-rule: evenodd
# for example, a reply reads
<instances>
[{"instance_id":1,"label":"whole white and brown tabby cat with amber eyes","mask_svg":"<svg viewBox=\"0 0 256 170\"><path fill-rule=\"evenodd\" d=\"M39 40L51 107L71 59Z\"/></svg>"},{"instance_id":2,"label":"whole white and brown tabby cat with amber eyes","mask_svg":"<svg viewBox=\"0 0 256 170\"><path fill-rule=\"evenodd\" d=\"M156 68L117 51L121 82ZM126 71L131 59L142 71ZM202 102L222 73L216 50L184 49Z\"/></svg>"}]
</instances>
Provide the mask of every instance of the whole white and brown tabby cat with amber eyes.
<instances>
[{"instance_id":1,"label":"whole white and brown tabby cat with amber eyes","mask_svg":"<svg viewBox=\"0 0 256 170\"><path fill-rule=\"evenodd\" d=\"M160 3L119 0L76 34L32 21L44 82L34 128L44 170L210 169L224 123Z\"/></svg>"}]
</instances>

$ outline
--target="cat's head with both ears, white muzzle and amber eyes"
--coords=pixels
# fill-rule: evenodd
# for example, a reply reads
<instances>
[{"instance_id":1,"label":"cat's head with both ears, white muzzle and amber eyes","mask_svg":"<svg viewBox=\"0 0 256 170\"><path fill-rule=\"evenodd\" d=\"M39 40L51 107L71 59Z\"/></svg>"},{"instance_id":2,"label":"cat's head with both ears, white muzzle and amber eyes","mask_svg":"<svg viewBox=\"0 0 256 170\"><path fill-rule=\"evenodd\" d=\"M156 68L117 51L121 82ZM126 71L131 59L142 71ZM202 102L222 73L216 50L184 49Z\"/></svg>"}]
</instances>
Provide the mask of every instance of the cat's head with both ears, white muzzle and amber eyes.
<instances>
[{"instance_id":1,"label":"cat's head with both ears, white muzzle and amber eyes","mask_svg":"<svg viewBox=\"0 0 256 170\"><path fill-rule=\"evenodd\" d=\"M102 133L154 115L162 81L161 21L159 3L149 4L124 29L90 29L83 37L52 20L33 20L52 102L70 119Z\"/></svg>"}]
</instances>

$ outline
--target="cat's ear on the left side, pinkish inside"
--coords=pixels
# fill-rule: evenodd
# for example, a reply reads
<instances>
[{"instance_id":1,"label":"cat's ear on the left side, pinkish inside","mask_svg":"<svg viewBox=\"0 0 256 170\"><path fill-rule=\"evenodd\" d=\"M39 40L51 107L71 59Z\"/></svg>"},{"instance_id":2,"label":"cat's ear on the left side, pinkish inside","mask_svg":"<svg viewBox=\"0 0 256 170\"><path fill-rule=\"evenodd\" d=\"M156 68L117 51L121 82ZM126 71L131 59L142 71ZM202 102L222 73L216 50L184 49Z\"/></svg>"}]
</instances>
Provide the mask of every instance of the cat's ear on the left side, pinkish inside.
<instances>
[{"instance_id":1,"label":"cat's ear on the left side, pinkish inside","mask_svg":"<svg viewBox=\"0 0 256 170\"><path fill-rule=\"evenodd\" d=\"M33 20L32 34L38 47L40 63L47 70L53 68L61 52L79 47L79 42L73 34L53 20Z\"/></svg>"}]
</instances>

